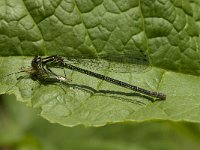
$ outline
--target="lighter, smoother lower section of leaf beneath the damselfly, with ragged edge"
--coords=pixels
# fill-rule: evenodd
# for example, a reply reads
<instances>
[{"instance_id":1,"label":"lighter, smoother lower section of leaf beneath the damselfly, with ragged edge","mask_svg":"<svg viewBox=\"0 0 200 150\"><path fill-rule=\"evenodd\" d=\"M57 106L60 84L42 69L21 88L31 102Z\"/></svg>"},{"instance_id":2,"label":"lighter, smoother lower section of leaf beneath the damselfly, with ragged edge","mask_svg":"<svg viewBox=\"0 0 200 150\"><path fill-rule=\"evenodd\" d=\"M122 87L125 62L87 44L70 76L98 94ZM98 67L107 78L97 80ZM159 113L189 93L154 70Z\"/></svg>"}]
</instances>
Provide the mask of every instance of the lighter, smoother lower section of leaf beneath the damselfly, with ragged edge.
<instances>
[{"instance_id":1,"label":"lighter, smoother lower section of leaf beneath the damselfly, with ragged edge","mask_svg":"<svg viewBox=\"0 0 200 150\"><path fill-rule=\"evenodd\" d=\"M32 80L28 73L6 76L19 71L21 66L29 66L31 59L1 58L0 92L15 93L18 100L40 108L41 115L51 122L65 126L102 126L152 119L200 122L197 107L199 77L156 68L141 74L109 73L110 77L167 95L165 101L152 103L145 97L134 95L133 91L77 72L73 72L72 82L68 85L41 84ZM70 75L68 71L66 73Z\"/></svg>"}]
</instances>

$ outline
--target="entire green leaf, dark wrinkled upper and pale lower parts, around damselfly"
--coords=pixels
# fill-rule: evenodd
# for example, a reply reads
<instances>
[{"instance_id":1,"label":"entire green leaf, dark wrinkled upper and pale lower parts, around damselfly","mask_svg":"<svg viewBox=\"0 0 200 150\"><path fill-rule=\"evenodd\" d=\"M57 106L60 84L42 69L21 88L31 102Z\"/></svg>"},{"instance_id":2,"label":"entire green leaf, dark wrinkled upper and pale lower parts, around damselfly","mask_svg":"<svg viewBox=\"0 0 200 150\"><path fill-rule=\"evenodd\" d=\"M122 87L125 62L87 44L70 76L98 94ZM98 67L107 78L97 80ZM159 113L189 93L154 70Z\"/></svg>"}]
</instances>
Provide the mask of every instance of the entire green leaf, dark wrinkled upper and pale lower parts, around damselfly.
<instances>
[{"instance_id":1,"label":"entire green leaf, dark wrinkled upper and pale lower parts, around damselfly","mask_svg":"<svg viewBox=\"0 0 200 150\"><path fill-rule=\"evenodd\" d=\"M0 6L0 54L4 56L0 93L14 93L17 100L40 108L44 118L65 126L200 121L198 0L8 0L0 1ZM30 66L33 57L27 55L137 56L140 50L150 59L146 72L99 72L162 91L165 101L152 103L130 90L71 71L67 71L72 79L69 85L44 85L27 73L6 76Z\"/></svg>"}]
</instances>

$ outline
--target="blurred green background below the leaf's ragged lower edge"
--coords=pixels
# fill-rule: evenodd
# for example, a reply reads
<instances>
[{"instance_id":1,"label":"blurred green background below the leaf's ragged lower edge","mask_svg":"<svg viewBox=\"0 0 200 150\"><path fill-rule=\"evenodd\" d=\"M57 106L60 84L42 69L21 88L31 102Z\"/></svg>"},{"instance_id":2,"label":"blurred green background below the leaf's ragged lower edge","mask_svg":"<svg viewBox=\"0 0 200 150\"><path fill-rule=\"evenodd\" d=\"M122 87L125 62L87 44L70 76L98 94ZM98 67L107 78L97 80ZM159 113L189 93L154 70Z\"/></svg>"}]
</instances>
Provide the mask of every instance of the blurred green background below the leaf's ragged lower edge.
<instances>
[{"instance_id":1,"label":"blurred green background below the leaf's ragged lower edge","mask_svg":"<svg viewBox=\"0 0 200 150\"><path fill-rule=\"evenodd\" d=\"M104 127L64 127L50 123L17 102L0 97L0 150L196 150L200 125L152 121Z\"/></svg>"}]
</instances>

